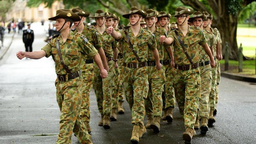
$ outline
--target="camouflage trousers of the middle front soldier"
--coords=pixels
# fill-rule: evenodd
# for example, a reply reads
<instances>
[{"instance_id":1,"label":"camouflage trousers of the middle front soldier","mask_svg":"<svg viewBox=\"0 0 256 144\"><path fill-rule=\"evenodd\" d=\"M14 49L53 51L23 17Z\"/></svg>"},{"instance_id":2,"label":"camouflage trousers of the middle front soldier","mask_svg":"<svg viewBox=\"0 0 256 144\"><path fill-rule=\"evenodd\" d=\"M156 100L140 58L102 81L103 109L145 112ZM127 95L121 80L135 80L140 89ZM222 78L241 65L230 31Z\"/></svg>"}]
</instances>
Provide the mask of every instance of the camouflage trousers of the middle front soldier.
<instances>
[{"instance_id":1,"label":"camouflage trousers of the middle front soldier","mask_svg":"<svg viewBox=\"0 0 256 144\"><path fill-rule=\"evenodd\" d=\"M141 68L123 67L125 98L131 109L132 124L143 125L145 116L144 98L148 95L147 66Z\"/></svg>"}]
</instances>

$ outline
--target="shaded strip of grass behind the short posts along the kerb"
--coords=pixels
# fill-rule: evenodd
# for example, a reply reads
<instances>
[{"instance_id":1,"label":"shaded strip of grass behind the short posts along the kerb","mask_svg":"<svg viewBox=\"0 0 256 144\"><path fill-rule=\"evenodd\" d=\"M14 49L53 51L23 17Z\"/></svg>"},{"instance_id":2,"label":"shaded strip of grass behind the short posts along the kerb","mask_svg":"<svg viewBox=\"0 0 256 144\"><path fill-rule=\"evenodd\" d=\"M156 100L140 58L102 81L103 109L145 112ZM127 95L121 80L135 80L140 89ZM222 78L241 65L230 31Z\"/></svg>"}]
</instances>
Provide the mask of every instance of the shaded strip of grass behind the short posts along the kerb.
<instances>
[{"instance_id":1,"label":"shaded strip of grass behind the short posts along the kerb","mask_svg":"<svg viewBox=\"0 0 256 144\"><path fill-rule=\"evenodd\" d=\"M225 60L220 60L221 63L221 71L224 71ZM231 72L237 75L246 75L248 77L256 78L255 74L255 60L244 60L243 61L243 72L238 72L238 61L229 60L229 70L227 72Z\"/></svg>"}]
</instances>

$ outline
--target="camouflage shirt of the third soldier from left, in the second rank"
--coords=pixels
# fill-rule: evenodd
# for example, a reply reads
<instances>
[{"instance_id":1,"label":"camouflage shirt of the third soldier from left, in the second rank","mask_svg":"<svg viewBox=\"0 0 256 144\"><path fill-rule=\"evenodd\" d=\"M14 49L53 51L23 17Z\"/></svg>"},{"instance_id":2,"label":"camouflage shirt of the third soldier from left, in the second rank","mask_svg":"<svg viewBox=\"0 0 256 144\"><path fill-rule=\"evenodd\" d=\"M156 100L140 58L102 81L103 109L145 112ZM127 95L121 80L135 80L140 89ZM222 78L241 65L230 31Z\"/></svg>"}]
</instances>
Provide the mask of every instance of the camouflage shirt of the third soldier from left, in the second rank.
<instances>
[{"instance_id":1,"label":"camouflage shirt of the third soldier from left, in the second rank","mask_svg":"<svg viewBox=\"0 0 256 144\"><path fill-rule=\"evenodd\" d=\"M111 37L111 34L107 32L107 29L103 34L99 33L100 40L102 41L102 48L104 49L105 55L108 58L113 58L113 48L118 47L117 41Z\"/></svg>"}]
</instances>

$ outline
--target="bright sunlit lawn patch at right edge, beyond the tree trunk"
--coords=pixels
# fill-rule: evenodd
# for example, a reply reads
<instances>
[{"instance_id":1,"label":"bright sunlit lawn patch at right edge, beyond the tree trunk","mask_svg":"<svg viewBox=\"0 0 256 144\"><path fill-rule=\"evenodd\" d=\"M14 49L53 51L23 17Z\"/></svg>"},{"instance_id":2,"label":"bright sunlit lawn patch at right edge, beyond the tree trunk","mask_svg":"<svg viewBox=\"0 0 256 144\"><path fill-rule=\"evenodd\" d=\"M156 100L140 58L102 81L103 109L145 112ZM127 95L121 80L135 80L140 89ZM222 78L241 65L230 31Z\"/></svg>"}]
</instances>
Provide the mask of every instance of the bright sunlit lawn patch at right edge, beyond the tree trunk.
<instances>
[{"instance_id":1,"label":"bright sunlit lawn patch at right edge, beyond the tree trunk","mask_svg":"<svg viewBox=\"0 0 256 144\"><path fill-rule=\"evenodd\" d=\"M256 53L256 26L253 24L239 24L237 27L237 43L242 43L243 54L249 58L255 58Z\"/></svg>"}]
</instances>

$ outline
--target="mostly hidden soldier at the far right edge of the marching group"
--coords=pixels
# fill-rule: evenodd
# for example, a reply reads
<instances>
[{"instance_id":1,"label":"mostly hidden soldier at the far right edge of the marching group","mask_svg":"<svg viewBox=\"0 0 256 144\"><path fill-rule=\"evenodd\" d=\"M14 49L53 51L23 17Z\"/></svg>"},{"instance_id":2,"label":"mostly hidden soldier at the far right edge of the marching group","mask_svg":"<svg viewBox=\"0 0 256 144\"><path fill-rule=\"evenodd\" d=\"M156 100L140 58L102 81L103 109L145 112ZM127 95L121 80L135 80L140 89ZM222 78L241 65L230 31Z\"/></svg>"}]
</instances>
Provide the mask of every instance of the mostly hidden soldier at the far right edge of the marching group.
<instances>
[{"instance_id":1,"label":"mostly hidden soldier at the far right edge of the marching group","mask_svg":"<svg viewBox=\"0 0 256 144\"><path fill-rule=\"evenodd\" d=\"M217 46L218 46L218 30L211 29L211 20L212 20L212 15L209 14L208 12L203 12L207 20L203 24L203 28L214 35L214 42L213 42L213 51L214 51L214 56L216 60L216 66L212 69L212 89L209 95L209 102L210 102L210 113L209 113L209 118L208 118L208 124L212 126L213 123L215 123L216 119L213 117L213 111L215 110L215 97L216 97L216 85L217 85L217 65L218 65L218 60L216 58L217 56Z\"/></svg>"}]
</instances>

